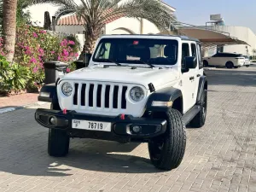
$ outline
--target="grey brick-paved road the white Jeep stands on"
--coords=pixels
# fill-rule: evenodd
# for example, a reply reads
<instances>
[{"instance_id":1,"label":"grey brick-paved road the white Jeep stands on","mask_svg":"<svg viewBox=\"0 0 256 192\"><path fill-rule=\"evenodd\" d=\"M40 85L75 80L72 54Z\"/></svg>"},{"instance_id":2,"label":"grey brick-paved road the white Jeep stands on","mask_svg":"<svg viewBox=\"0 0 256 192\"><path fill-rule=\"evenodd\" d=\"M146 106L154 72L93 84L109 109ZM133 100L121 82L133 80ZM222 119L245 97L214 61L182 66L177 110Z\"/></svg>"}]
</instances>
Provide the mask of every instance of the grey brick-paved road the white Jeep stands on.
<instances>
[{"instance_id":1,"label":"grey brick-paved road the white Jeep stands on","mask_svg":"<svg viewBox=\"0 0 256 192\"><path fill-rule=\"evenodd\" d=\"M147 144L74 139L49 157L34 109L0 114L0 191L256 191L256 67L207 70L207 124L189 129L185 157L171 172L148 160Z\"/></svg>"}]
</instances>

